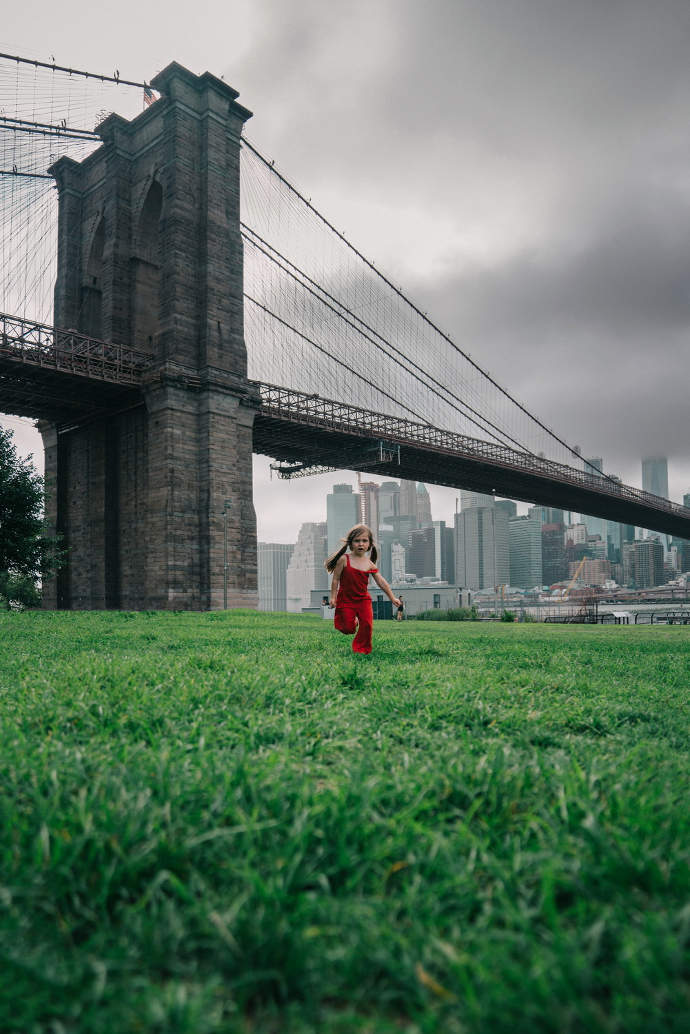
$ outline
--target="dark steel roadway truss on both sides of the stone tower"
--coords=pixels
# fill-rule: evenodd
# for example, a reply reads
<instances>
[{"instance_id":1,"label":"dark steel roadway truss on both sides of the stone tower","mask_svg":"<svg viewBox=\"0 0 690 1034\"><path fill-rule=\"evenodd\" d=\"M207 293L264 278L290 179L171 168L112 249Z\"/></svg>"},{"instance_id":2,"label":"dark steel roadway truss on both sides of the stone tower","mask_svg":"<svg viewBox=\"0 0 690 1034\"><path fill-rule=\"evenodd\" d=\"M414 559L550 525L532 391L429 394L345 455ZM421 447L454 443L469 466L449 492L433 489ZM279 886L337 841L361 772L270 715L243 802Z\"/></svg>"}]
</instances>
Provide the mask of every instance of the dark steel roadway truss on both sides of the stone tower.
<instances>
[{"instance_id":1,"label":"dark steel roadway truss on both sides of the stone tower","mask_svg":"<svg viewBox=\"0 0 690 1034\"><path fill-rule=\"evenodd\" d=\"M54 421L59 432L143 405L151 365L150 356L124 345L0 315L0 412ZM256 388L253 451L277 460L286 476L360 469L690 539L690 510L650 492L428 424L273 385Z\"/></svg>"}]
</instances>

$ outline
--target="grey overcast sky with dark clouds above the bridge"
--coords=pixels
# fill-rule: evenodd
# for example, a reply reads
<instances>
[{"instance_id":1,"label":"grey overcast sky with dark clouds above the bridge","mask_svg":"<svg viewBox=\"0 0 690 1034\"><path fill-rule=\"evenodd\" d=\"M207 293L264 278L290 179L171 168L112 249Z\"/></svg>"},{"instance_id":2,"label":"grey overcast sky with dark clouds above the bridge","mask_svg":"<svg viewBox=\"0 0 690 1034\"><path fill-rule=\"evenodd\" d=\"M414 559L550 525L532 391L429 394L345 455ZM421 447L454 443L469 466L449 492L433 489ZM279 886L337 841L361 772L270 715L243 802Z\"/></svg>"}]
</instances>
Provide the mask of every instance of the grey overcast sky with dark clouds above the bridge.
<instances>
[{"instance_id":1,"label":"grey overcast sky with dark clouds above the bridge","mask_svg":"<svg viewBox=\"0 0 690 1034\"><path fill-rule=\"evenodd\" d=\"M667 454L688 490L688 0L12 8L4 52L224 75L249 138L513 395L629 484ZM342 480L258 459L260 538L294 541Z\"/></svg>"}]
</instances>

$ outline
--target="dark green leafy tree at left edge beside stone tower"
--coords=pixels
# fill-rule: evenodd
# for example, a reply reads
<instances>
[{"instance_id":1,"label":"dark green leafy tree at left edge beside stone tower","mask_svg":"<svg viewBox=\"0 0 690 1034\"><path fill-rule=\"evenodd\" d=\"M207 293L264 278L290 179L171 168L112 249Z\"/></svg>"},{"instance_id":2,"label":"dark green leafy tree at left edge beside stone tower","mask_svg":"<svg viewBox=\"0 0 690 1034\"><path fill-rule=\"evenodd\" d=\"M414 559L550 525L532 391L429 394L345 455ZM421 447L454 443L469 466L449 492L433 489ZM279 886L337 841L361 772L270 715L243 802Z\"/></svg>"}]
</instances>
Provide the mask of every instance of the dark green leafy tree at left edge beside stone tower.
<instances>
[{"instance_id":1,"label":"dark green leafy tree at left edge beside stone tower","mask_svg":"<svg viewBox=\"0 0 690 1034\"><path fill-rule=\"evenodd\" d=\"M12 432L0 428L0 606L37 606L37 581L65 561L59 537L46 533L43 479L32 457L18 456Z\"/></svg>"}]
</instances>

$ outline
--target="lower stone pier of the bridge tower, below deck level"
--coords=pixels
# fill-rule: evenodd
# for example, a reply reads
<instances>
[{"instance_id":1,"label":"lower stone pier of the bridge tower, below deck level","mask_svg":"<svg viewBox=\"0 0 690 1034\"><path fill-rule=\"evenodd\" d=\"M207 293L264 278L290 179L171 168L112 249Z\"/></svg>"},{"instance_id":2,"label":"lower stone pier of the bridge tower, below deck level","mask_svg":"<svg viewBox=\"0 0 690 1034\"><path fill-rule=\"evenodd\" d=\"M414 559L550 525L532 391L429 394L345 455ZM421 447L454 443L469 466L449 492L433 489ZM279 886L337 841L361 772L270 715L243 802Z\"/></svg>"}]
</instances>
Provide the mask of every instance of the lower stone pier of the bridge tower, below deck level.
<instances>
[{"instance_id":1,"label":"lower stone pier of the bridge tower, below deck level","mask_svg":"<svg viewBox=\"0 0 690 1034\"><path fill-rule=\"evenodd\" d=\"M47 516L70 550L44 585L49 609L222 608L228 498L228 606L257 605L256 400L151 379L129 413L61 432L40 425Z\"/></svg>"}]
</instances>

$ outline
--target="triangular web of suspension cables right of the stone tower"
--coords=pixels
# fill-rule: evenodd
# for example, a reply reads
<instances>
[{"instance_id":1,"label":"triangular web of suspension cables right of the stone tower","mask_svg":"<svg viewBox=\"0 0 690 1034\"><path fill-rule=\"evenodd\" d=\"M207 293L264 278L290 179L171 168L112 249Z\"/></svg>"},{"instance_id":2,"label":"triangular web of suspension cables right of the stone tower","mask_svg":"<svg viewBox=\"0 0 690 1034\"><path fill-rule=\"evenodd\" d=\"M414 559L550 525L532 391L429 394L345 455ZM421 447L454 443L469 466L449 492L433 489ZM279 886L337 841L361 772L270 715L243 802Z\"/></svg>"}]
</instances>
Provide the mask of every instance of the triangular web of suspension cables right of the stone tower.
<instances>
[{"instance_id":1,"label":"triangular web of suspension cables right of the stone tower","mask_svg":"<svg viewBox=\"0 0 690 1034\"><path fill-rule=\"evenodd\" d=\"M573 463L247 140L241 170L252 378Z\"/></svg>"}]
</instances>

